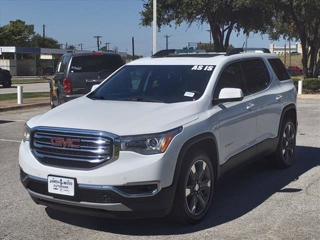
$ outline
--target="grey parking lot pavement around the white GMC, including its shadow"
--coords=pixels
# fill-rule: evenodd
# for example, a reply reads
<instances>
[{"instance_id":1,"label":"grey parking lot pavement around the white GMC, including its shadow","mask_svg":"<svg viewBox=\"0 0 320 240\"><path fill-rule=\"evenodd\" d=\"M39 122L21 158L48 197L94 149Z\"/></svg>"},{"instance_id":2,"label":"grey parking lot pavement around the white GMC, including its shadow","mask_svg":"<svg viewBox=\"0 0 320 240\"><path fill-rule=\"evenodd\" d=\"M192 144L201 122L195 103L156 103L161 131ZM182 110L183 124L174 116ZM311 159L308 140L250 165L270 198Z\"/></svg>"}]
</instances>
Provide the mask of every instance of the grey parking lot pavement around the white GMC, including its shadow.
<instances>
[{"instance_id":1,"label":"grey parking lot pavement around the white GMC, including its shadow","mask_svg":"<svg viewBox=\"0 0 320 240\"><path fill-rule=\"evenodd\" d=\"M52 210L32 202L19 181L18 141L24 121L47 108L1 112L0 239L319 239L320 100L298 100L291 167L267 159L224 177L197 225L167 217L115 220Z\"/></svg>"}]
</instances>

